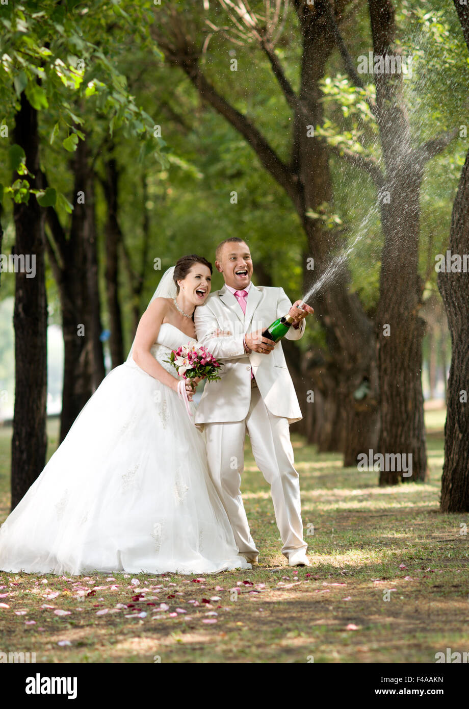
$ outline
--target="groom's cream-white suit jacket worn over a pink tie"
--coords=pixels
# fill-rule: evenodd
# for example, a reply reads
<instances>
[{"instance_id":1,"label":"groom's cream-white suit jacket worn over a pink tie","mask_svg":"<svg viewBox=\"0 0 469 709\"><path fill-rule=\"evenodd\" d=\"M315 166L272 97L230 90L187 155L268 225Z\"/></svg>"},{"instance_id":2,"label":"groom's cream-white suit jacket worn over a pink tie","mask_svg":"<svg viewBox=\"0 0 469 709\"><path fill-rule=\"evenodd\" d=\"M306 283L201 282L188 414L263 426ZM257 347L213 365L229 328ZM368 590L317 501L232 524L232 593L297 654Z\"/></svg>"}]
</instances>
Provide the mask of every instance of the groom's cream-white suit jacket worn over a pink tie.
<instances>
[{"instance_id":1,"label":"groom's cream-white suit jacket worn over a pink tie","mask_svg":"<svg viewBox=\"0 0 469 709\"><path fill-rule=\"evenodd\" d=\"M220 381L205 384L196 411L195 423L203 430L205 423L241 421L247 417L251 403L251 368L266 407L276 416L288 418L288 423L302 418L293 381L288 372L281 342L270 354L244 352L244 333L265 329L277 318L286 316L291 302L283 288L256 287L251 284L247 296L246 314L226 286L208 296L194 314L197 340L219 360ZM230 335L213 336L215 330ZM291 327L288 340L299 340L305 332L305 320L300 327Z\"/></svg>"}]
</instances>

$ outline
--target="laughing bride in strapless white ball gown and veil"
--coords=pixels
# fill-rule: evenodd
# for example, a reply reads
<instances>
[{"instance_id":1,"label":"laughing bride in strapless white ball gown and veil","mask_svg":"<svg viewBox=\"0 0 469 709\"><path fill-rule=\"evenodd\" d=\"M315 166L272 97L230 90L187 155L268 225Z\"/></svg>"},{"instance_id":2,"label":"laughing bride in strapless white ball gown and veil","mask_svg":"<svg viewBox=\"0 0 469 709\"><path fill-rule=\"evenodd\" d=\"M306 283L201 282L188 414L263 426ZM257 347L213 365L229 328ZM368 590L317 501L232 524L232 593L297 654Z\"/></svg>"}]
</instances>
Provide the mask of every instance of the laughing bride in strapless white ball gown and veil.
<instances>
[{"instance_id":1,"label":"laughing bride in strapless white ball gown and veil","mask_svg":"<svg viewBox=\"0 0 469 709\"><path fill-rule=\"evenodd\" d=\"M196 255L166 271L127 361L103 379L1 525L1 570L251 568L208 475L204 437L177 391L186 386L192 402L191 384L164 361L196 340L193 312L210 293L211 274L212 264ZM194 403L188 406L194 413Z\"/></svg>"}]
</instances>

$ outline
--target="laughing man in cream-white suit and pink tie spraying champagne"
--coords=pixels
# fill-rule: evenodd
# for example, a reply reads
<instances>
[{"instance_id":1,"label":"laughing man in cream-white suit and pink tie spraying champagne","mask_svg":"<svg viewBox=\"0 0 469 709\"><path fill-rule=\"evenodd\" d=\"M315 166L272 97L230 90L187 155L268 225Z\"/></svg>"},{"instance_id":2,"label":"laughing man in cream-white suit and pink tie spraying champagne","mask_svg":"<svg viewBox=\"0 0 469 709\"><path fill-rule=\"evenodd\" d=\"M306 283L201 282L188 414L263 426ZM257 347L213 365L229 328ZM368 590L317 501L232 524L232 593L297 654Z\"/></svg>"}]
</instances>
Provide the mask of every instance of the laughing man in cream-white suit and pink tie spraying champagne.
<instances>
[{"instance_id":1,"label":"laughing man in cream-white suit and pink tie spraying champagne","mask_svg":"<svg viewBox=\"0 0 469 709\"><path fill-rule=\"evenodd\" d=\"M197 340L224 365L221 381L205 386L196 425L205 428L210 477L235 534L239 553L257 564L256 549L242 502L244 438L251 439L256 464L271 485L273 509L290 566L309 566L303 541L300 482L293 467L289 424L301 416L281 342L261 336L262 330L290 313L286 337L299 340L310 306L300 310L281 288L254 286L247 244L237 237L217 246L215 266L225 285L196 308Z\"/></svg>"}]
</instances>

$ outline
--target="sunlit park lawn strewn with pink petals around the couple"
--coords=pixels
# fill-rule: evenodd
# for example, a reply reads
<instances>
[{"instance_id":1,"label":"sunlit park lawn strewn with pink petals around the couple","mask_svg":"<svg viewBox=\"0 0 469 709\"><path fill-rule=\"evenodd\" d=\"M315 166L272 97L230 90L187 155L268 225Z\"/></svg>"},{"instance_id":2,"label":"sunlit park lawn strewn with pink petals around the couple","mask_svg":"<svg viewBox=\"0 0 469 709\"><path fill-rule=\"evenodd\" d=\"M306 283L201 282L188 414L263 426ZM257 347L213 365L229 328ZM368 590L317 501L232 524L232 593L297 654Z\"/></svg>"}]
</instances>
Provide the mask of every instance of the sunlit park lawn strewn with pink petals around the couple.
<instances>
[{"instance_id":1,"label":"sunlit park lawn strewn with pink petals around the couple","mask_svg":"<svg viewBox=\"0 0 469 709\"><path fill-rule=\"evenodd\" d=\"M203 578L0 571L0 594L8 594L0 603L9 605L0 608L0 651L35 652L38 662L149 663L421 663L446 647L468 652L469 520L439 513L443 420L431 412L429 481L385 489L377 473L344 469L338 454L317 454L292 428L312 562L306 569L290 569L281 554L269 487L248 439L243 493L258 568ZM49 454L57 421L50 436ZM9 510L10 440L11 429L0 428L0 522ZM79 600L80 589L91 593ZM186 613L171 616L176 608Z\"/></svg>"}]
</instances>

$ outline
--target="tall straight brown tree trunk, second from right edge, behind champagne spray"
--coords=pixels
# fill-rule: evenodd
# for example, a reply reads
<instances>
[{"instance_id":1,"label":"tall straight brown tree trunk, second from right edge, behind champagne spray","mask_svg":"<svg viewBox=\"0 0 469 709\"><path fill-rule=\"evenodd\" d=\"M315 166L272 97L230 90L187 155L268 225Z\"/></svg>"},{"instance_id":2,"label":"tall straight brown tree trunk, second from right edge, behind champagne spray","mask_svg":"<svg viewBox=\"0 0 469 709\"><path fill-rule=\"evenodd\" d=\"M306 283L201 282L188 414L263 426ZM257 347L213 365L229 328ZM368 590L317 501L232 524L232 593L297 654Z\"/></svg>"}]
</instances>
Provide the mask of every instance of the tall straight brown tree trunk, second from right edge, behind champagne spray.
<instances>
[{"instance_id":1,"label":"tall straight brown tree trunk, second from right edge, behind champagne spray","mask_svg":"<svg viewBox=\"0 0 469 709\"><path fill-rule=\"evenodd\" d=\"M395 48L391 0L368 0L375 55ZM385 238L377 312L380 436L378 452L412 456L412 476L380 470L380 485L426 479L422 338L419 317L419 194L424 162L411 147L401 74L376 74L375 116L385 164L381 223ZM386 194L388 193L388 194ZM397 466L396 466L397 467Z\"/></svg>"}]
</instances>

